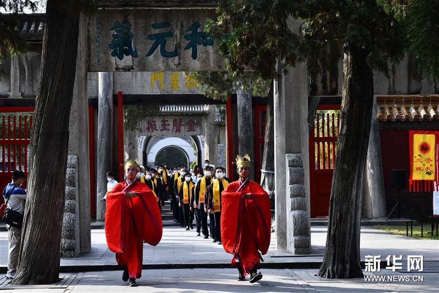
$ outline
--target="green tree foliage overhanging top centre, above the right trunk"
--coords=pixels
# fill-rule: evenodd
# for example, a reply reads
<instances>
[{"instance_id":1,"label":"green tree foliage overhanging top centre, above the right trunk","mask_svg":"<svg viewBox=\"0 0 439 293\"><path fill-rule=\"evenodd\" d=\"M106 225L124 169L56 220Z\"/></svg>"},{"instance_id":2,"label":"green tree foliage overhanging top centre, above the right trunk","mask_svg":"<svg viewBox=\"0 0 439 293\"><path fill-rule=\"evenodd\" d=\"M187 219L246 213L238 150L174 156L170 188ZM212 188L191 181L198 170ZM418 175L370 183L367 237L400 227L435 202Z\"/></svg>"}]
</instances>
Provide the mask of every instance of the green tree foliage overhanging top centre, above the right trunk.
<instances>
[{"instance_id":1,"label":"green tree foliage overhanging top centre, above the right trunk","mask_svg":"<svg viewBox=\"0 0 439 293\"><path fill-rule=\"evenodd\" d=\"M400 26L376 0L219 0L217 13L206 26L219 38L231 72L250 68L275 78L276 57L284 66L294 65L327 56L334 42L367 50L370 66L385 73L388 57L402 57ZM292 16L305 23L301 35L289 29Z\"/></svg>"}]
</instances>

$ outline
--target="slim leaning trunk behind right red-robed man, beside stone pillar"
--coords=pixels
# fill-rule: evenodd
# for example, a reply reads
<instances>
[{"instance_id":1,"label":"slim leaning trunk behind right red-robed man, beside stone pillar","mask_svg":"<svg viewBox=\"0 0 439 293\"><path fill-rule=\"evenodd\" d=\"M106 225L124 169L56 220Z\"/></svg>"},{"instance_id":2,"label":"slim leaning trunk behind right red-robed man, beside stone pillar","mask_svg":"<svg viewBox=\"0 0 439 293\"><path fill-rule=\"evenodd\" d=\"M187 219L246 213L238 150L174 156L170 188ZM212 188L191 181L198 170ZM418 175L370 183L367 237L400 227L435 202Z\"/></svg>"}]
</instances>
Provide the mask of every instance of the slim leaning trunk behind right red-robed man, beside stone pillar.
<instances>
[{"instance_id":1,"label":"slim leaning trunk behind right red-robed man, beside stone pillar","mask_svg":"<svg viewBox=\"0 0 439 293\"><path fill-rule=\"evenodd\" d=\"M273 83L267 97L267 115L265 123L264 154L261 169L268 172L261 172L261 186L270 196L272 208L274 208L274 97Z\"/></svg>"}]
</instances>

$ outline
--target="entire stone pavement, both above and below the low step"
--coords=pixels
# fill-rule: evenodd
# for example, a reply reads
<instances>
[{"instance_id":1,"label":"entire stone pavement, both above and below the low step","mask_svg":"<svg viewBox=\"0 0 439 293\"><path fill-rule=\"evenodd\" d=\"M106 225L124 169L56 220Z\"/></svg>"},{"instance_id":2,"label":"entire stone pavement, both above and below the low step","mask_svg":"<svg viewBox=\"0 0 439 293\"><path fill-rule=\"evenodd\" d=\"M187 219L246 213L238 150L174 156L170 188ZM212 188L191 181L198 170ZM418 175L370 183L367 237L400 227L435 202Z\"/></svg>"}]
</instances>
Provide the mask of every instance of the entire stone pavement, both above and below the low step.
<instances>
[{"instance_id":1,"label":"entire stone pavement, both above and below the low step","mask_svg":"<svg viewBox=\"0 0 439 293\"><path fill-rule=\"evenodd\" d=\"M230 268L231 256L211 239L196 236L194 230L164 227L157 247L144 246L143 276L138 288L120 281L121 270L114 253L105 244L103 229L93 229L92 252L61 260L58 284L11 287L4 278L7 265L7 232L0 232L0 293L3 292L437 292L439 288L439 241L416 240L372 228L361 228L361 260L365 255L423 255L424 271L407 273L381 266L379 273L367 275L408 276L408 282L364 279L326 280L315 276L323 258L326 226L312 226L312 253L292 255L274 248L275 239L262 264L264 278L259 284L236 281L237 270ZM272 237L274 237L272 233ZM1 274L2 273L2 274ZM413 276L423 282L414 282Z\"/></svg>"}]
</instances>

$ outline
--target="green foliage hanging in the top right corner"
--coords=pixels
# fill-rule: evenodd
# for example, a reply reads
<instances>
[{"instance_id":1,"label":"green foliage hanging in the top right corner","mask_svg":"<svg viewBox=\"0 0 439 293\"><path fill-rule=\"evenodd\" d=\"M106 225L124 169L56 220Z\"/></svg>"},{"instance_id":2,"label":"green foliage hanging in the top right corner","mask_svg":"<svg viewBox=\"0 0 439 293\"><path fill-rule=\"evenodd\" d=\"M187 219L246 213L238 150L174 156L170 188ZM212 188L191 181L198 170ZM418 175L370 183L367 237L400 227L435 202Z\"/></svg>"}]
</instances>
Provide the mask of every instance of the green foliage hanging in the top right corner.
<instances>
[{"instance_id":1,"label":"green foliage hanging in the top right corner","mask_svg":"<svg viewBox=\"0 0 439 293\"><path fill-rule=\"evenodd\" d=\"M406 46L423 74L439 78L439 0L378 1L402 24Z\"/></svg>"}]
</instances>

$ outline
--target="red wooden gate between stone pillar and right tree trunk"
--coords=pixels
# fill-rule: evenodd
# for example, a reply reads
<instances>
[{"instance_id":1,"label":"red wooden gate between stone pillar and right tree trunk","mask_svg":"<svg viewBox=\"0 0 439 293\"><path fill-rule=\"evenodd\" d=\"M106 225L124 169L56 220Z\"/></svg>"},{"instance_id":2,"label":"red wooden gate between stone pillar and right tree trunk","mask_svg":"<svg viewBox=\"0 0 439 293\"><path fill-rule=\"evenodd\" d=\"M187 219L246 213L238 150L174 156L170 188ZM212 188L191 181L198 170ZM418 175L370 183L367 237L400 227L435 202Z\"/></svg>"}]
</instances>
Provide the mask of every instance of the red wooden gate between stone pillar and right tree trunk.
<instances>
[{"instance_id":1,"label":"red wooden gate between stone pillar and right tree trunk","mask_svg":"<svg viewBox=\"0 0 439 293\"><path fill-rule=\"evenodd\" d=\"M327 217L334 174L340 105L319 105L310 133L311 217Z\"/></svg>"}]
</instances>

